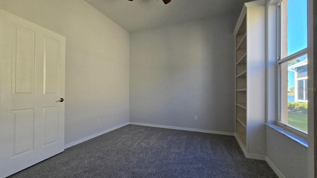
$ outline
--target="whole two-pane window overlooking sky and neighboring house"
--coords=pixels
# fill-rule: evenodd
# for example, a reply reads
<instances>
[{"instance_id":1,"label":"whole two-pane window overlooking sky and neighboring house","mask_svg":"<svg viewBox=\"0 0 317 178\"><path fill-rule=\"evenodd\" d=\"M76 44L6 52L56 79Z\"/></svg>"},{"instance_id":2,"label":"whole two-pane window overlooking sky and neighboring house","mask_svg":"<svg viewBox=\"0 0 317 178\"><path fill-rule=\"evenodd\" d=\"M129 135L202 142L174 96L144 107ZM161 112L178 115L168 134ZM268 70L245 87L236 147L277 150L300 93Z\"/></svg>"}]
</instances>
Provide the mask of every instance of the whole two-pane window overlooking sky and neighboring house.
<instances>
[{"instance_id":1,"label":"whole two-pane window overlooking sky and neighboring house","mask_svg":"<svg viewBox=\"0 0 317 178\"><path fill-rule=\"evenodd\" d=\"M307 137L307 0L279 4L277 124Z\"/></svg>"}]
</instances>

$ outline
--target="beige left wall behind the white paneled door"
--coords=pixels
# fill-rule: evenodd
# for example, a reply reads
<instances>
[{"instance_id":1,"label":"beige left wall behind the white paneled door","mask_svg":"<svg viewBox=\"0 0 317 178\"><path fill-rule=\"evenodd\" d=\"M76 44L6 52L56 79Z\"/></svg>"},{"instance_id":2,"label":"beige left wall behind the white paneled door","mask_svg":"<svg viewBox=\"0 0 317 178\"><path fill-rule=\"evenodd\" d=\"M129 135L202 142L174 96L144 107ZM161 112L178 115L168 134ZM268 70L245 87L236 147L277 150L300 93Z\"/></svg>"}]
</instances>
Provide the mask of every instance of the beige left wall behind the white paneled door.
<instances>
[{"instance_id":1,"label":"beige left wall behind the white paneled door","mask_svg":"<svg viewBox=\"0 0 317 178\"><path fill-rule=\"evenodd\" d=\"M0 7L66 37L65 144L129 122L128 32L84 0Z\"/></svg>"}]
</instances>

